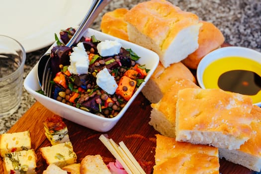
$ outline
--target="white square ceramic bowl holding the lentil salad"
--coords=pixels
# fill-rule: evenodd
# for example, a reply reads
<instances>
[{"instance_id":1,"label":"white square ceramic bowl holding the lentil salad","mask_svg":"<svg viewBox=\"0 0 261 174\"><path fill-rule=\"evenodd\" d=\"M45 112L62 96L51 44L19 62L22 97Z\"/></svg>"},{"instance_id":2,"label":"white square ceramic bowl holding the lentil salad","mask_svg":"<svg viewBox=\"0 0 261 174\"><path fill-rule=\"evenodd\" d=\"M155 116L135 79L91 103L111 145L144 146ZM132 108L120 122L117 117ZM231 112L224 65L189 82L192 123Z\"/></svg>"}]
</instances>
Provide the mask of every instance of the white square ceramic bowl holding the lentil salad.
<instances>
[{"instance_id":1,"label":"white square ceramic bowl holding the lentil salad","mask_svg":"<svg viewBox=\"0 0 261 174\"><path fill-rule=\"evenodd\" d=\"M94 35L98 40L115 40L118 38L115 38L113 36L110 36L108 34L93 30L91 28L88 28L85 36L92 36ZM98 132L106 132L109 131L111 128L115 126L115 124L119 121L119 119L123 116L125 111L128 109L130 104L133 102L135 97L138 95L138 93L141 91L142 87L145 86L145 84L148 82L149 78L152 76L153 72L157 68L159 64L159 56L146 48L143 48L139 45L133 44L131 42L127 42L122 39L118 39L119 42L122 44L122 47L125 49L131 48L139 57L141 57L137 62L141 65L145 65L147 69L149 69L149 73L147 74L147 77L145 78L145 82L143 82L140 87L136 90L136 92L133 94L131 99L126 103L126 105L122 108L122 110L119 112L119 114L113 118L104 118L95 114L92 114L90 112L84 111L82 109L70 106L68 104L62 103L60 101L57 101L55 99L49 98L45 95L42 95L36 90L40 90L41 87L39 86L38 79L37 79L37 67L38 63L33 67L33 69L29 72L27 77L24 80L24 87L25 89L33 95L33 97L39 101L42 105L44 105L47 109L52 111L53 113L68 119L72 122L75 122L77 124L83 125L87 128L96 130ZM55 44L54 44L55 45ZM52 45L51 48L54 46ZM50 52L51 48L47 51Z\"/></svg>"}]
</instances>

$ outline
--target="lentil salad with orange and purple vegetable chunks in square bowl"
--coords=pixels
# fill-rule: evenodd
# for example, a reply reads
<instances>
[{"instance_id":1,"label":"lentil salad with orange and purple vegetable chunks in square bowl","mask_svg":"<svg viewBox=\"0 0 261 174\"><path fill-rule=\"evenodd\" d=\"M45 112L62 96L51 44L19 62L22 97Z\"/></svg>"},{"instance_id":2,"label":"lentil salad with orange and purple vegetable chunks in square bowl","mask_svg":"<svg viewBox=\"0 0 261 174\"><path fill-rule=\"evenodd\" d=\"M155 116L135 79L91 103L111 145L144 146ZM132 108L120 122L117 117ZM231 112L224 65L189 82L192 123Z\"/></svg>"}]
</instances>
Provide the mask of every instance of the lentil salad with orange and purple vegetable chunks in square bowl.
<instances>
[{"instance_id":1,"label":"lentil salad with orange and purple vegetable chunks in square bowl","mask_svg":"<svg viewBox=\"0 0 261 174\"><path fill-rule=\"evenodd\" d=\"M60 38L63 43L67 43L74 32L73 28L62 30ZM52 72L55 75L52 98L96 115L115 117L144 82L149 71L136 62L139 56L131 49L121 47L118 54L100 56L97 45L101 41L91 36L83 37L80 41L88 56L88 72L72 74L68 67L74 47L66 47L57 36L56 40L57 46L51 50ZM97 75L105 69L117 84L114 93L106 92L96 83Z\"/></svg>"}]
</instances>

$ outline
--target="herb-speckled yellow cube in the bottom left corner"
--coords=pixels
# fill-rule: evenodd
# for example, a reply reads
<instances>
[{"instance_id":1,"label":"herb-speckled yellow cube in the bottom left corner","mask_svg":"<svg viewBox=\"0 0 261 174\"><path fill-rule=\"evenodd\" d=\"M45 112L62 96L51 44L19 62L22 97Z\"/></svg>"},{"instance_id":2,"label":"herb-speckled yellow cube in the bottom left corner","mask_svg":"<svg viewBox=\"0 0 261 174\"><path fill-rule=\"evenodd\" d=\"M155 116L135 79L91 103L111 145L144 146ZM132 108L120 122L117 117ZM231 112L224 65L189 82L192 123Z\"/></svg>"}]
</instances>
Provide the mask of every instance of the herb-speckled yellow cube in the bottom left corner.
<instances>
[{"instance_id":1,"label":"herb-speckled yellow cube in the bottom left corner","mask_svg":"<svg viewBox=\"0 0 261 174\"><path fill-rule=\"evenodd\" d=\"M34 150L7 153L3 157L3 174L36 174Z\"/></svg>"}]
</instances>

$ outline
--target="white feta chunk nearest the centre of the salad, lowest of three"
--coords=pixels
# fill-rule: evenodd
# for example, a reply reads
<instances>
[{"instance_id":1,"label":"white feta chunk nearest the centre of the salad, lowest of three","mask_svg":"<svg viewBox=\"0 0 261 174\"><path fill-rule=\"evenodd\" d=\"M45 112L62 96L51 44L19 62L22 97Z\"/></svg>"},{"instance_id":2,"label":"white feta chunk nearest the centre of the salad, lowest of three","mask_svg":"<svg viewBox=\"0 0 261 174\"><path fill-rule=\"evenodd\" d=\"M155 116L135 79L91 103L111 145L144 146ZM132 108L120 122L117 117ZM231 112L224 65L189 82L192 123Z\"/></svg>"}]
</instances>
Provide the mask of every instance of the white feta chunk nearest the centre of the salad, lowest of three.
<instances>
[{"instance_id":1,"label":"white feta chunk nearest the centre of the salad, lowest of three","mask_svg":"<svg viewBox=\"0 0 261 174\"><path fill-rule=\"evenodd\" d=\"M110 75L107 68L99 71L96 75L97 85L109 94L113 94L116 91L118 85L113 76Z\"/></svg>"}]
</instances>

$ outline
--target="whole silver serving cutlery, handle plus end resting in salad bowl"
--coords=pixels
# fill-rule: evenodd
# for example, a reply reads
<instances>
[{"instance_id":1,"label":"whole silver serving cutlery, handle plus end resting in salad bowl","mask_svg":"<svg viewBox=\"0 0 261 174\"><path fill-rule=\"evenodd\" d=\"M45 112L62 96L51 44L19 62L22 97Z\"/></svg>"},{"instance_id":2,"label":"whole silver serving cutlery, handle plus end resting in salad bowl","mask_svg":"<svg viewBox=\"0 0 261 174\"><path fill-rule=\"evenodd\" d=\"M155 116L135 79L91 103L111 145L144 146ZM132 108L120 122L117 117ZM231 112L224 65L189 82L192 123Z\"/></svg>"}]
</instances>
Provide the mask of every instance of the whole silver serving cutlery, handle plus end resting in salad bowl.
<instances>
[{"instance_id":1,"label":"whole silver serving cutlery, handle plus end resting in salad bowl","mask_svg":"<svg viewBox=\"0 0 261 174\"><path fill-rule=\"evenodd\" d=\"M86 29L92 24L94 19L98 16L98 14L101 12L101 10L108 4L110 0L93 0L91 3L91 6L81 22L80 26L77 28L76 32L72 36L72 38L69 40L69 42L66 44L66 46L71 47L75 43L78 43L80 39L83 37ZM44 94L47 96L50 96L47 90L49 90L47 86L49 86L49 75L47 73L50 73L51 67L51 57L50 53L44 54L39 62L38 62L38 68L37 68L37 77L38 82L41 87L41 89L44 91ZM49 70L49 72L48 72Z\"/></svg>"}]
</instances>

